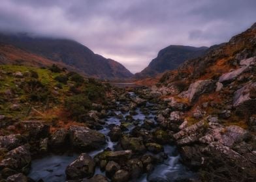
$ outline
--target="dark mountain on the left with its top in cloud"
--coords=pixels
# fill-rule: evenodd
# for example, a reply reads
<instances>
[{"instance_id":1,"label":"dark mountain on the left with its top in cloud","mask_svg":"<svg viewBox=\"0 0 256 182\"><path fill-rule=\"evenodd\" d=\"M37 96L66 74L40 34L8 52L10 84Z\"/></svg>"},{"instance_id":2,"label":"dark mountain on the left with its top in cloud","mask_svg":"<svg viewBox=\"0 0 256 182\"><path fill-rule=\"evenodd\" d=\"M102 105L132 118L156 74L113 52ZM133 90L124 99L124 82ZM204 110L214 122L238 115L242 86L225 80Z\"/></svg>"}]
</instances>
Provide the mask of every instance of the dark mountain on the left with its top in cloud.
<instances>
[{"instance_id":1,"label":"dark mountain on the left with its top in cloud","mask_svg":"<svg viewBox=\"0 0 256 182\"><path fill-rule=\"evenodd\" d=\"M90 77L126 79L133 76L119 62L97 55L73 40L39 38L27 34L0 34L0 42L43 59L67 65Z\"/></svg>"}]
</instances>

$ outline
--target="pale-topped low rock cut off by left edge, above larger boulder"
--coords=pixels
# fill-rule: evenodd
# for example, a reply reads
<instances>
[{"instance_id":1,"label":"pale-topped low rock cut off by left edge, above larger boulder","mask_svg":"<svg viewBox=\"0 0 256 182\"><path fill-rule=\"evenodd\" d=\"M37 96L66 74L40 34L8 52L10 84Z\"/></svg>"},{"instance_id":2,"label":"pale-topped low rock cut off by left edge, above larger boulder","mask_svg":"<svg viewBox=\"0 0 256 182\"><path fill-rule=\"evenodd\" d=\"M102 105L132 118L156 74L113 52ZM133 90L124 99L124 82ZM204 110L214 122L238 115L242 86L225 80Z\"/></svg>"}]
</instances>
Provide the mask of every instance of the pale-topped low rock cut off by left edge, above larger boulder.
<instances>
[{"instance_id":1,"label":"pale-topped low rock cut off by left edge, above larger boulder","mask_svg":"<svg viewBox=\"0 0 256 182\"><path fill-rule=\"evenodd\" d=\"M24 143L24 138L20 134L0 136L0 148L8 150L17 148Z\"/></svg>"}]
</instances>

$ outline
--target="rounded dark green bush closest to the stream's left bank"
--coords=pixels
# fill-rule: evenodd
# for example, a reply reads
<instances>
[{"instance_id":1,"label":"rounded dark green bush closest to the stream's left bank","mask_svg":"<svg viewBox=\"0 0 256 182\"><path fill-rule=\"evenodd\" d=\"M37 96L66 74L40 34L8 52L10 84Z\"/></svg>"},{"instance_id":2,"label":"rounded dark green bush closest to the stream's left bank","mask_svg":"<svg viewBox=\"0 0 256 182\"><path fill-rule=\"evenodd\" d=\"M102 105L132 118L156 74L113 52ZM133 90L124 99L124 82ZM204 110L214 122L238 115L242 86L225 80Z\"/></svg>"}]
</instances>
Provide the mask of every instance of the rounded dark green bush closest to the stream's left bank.
<instances>
[{"instance_id":1,"label":"rounded dark green bush closest to the stream's left bank","mask_svg":"<svg viewBox=\"0 0 256 182\"><path fill-rule=\"evenodd\" d=\"M73 118L78 120L81 115L86 114L91 109L91 101L84 94L78 94L65 99L65 109Z\"/></svg>"}]
</instances>

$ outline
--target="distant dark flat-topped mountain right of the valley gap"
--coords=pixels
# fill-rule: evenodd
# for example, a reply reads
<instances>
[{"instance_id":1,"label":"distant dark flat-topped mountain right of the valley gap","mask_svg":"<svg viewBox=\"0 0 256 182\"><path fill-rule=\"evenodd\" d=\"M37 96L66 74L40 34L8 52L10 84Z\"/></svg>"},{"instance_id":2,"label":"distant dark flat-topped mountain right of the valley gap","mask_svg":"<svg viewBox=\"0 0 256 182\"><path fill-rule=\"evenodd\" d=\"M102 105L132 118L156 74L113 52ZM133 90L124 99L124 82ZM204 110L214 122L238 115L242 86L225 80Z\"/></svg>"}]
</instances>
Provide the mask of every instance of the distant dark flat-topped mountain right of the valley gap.
<instances>
[{"instance_id":1,"label":"distant dark flat-topped mountain right of the valley gap","mask_svg":"<svg viewBox=\"0 0 256 182\"><path fill-rule=\"evenodd\" d=\"M187 59L193 59L204 55L208 47L191 47L185 45L170 45L159 51L148 67L142 72L136 73L136 78L153 77L157 73L178 68Z\"/></svg>"}]
</instances>

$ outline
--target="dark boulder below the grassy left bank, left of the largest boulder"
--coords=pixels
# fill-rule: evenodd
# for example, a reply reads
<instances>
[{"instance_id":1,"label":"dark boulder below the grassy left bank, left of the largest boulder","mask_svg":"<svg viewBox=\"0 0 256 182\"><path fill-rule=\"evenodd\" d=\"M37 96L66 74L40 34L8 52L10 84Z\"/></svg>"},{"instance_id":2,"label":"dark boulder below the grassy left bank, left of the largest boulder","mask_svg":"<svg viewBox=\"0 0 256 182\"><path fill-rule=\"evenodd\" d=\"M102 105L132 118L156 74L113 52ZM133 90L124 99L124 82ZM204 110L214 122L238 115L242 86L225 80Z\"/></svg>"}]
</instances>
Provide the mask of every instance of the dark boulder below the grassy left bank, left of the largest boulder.
<instances>
[{"instance_id":1,"label":"dark boulder below the grassy left bank, left of the largest boulder","mask_svg":"<svg viewBox=\"0 0 256 182\"><path fill-rule=\"evenodd\" d=\"M46 138L50 134L50 126L42 123L41 121L24 121L21 122L22 129L27 131L32 140L38 138Z\"/></svg>"}]
</instances>

